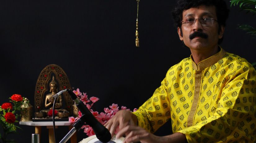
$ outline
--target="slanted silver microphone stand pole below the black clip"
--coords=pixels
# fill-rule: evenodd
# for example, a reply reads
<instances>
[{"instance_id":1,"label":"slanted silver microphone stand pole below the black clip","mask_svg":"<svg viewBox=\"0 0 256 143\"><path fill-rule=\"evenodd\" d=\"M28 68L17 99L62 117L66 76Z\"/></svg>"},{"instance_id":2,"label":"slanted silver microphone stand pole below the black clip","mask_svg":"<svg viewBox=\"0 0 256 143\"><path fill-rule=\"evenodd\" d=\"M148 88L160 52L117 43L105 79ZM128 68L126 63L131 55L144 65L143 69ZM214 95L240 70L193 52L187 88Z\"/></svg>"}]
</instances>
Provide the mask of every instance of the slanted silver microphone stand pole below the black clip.
<instances>
[{"instance_id":1,"label":"slanted silver microphone stand pole below the black clip","mask_svg":"<svg viewBox=\"0 0 256 143\"><path fill-rule=\"evenodd\" d=\"M83 115L78 121L75 122L73 128L66 134L66 136L60 141L60 143L67 142L76 131L79 131L84 125L84 119L86 115Z\"/></svg>"}]
</instances>

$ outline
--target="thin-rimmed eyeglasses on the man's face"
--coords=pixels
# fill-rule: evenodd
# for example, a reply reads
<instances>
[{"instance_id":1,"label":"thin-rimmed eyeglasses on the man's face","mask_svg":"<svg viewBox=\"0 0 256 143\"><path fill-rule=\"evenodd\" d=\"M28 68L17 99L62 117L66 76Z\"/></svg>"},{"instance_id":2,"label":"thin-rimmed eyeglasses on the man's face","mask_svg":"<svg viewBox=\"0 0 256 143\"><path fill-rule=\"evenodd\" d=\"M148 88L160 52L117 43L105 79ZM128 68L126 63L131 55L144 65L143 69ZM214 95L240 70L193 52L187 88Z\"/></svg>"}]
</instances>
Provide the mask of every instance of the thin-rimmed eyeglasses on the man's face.
<instances>
[{"instance_id":1,"label":"thin-rimmed eyeglasses on the man's face","mask_svg":"<svg viewBox=\"0 0 256 143\"><path fill-rule=\"evenodd\" d=\"M181 21L181 24L183 24L183 25L185 25L187 27L193 27L195 25L196 19L198 19L200 21L201 25L203 25L203 26L213 25L213 21L215 20L213 18L204 18L204 19L201 19L201 18L195 18L195 19L189 18L186 21ZM217 21L217 20L215 20L215 21Z\"/></svg>"}]
</instances>

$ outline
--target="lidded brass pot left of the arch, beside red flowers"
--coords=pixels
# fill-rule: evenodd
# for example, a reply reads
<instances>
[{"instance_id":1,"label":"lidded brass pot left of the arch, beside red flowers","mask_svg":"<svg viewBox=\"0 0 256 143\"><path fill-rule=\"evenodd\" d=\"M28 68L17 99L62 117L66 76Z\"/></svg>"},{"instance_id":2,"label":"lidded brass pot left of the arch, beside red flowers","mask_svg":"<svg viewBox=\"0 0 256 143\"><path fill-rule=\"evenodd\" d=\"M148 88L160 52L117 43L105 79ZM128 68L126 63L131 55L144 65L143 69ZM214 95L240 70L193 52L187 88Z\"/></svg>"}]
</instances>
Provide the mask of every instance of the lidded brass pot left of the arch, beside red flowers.
<instances>
[{"instance_id":1,"label":"lidded brass pot left of the arch, beside red flowers","mask_svg":"<svg viewBox=\"0 0 256 143\"><path fill-rule=\"evenodd\" d=\"M20 106L20 121L32 121L32 105L29 104L29 100L25 98L24 102Z\"/></svg>"}]
</instances>

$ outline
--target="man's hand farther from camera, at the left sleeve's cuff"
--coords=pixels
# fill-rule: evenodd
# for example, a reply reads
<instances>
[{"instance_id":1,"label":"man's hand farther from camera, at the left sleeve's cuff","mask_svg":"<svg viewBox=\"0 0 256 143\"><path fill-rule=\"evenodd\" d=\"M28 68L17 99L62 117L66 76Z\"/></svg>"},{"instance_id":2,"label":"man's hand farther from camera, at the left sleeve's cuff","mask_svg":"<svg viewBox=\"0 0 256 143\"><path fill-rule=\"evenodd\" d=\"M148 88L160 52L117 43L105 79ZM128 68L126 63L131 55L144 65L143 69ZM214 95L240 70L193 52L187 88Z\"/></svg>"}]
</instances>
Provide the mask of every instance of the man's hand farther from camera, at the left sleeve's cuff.
<instances>
[{"instance_id":1,"label":"man's hand farther from camera, at the left sleeve's cuff","mask_svg":"<svg viewBox=\"0 0 256 143\"><path fill-rule=\"evenodd\" d=\"M104 126L110 131L113 137L118 126L121 130L128 125L137 125L137 117L130 111L120 110Z\"/></svg>"}]
</instances>

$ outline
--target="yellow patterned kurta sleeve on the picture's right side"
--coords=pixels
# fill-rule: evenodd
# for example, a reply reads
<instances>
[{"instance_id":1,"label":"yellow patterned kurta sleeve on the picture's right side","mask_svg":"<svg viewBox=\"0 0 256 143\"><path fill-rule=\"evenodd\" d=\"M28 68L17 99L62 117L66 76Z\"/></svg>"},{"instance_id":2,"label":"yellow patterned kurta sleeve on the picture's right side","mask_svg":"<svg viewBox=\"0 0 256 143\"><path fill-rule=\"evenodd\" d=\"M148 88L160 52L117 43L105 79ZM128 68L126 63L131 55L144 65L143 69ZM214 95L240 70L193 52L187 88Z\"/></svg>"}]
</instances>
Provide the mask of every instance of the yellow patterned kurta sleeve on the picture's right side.
<instances>
[{"instance_id":1,"label":"yellow patterned kurta sleeve on the picture's right side","mask_svg":"<svg viewBox=\"0 0 256 143\"><path fill-rule=\"evenodd\" d=\"M255 70L245 65L228 78L213 115L178 131L188 142L255 140Z\"/></svg>"}]
</instances>

